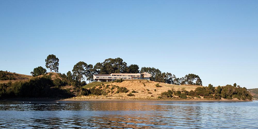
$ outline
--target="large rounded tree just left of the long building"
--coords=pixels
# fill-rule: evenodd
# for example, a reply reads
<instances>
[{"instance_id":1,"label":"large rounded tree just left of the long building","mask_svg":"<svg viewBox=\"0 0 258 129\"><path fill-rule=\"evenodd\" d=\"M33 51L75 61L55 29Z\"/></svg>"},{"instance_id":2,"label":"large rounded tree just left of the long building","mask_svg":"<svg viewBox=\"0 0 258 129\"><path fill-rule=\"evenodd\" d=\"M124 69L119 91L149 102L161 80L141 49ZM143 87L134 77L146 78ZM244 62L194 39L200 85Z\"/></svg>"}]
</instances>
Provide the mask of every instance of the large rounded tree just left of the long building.
<instances>
[{"instance_id":1,"label":"large rounded tree just left of the long building","mask_svg":"<svg viewBox=\"0 0 258 129\"><path fill-rule=\"evenodd\" d=\"M81 80L85 79L85 77L88 78L91 76L90 69L92 69L92 65L87 65L87 63L80 61L74 65L72 74L76 80L81 82Z\"/></svg>"}]
</instances>

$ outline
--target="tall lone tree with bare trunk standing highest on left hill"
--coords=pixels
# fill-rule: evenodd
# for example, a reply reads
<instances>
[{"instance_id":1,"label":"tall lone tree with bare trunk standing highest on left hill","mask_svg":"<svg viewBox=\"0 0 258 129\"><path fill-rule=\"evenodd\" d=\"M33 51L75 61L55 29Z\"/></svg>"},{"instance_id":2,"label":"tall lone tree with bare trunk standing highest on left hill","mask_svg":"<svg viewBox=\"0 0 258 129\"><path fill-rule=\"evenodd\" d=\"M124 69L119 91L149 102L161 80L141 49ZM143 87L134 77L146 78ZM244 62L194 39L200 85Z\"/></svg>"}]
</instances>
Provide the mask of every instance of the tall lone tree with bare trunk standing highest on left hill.
<instances>
[{"instance_id":1,"label":"tall lone tree with bare trunk standing highest on left hill","mask_svg":"<svg viewBox=\"0 0 258 129\"><path fill-rule=\"evenodd\" d=\"M58 72L59 59L55 57L55 55L48 55L46 61L46 68L50 70L50 72L55 71Z\"/></svg>"}]
</instances>

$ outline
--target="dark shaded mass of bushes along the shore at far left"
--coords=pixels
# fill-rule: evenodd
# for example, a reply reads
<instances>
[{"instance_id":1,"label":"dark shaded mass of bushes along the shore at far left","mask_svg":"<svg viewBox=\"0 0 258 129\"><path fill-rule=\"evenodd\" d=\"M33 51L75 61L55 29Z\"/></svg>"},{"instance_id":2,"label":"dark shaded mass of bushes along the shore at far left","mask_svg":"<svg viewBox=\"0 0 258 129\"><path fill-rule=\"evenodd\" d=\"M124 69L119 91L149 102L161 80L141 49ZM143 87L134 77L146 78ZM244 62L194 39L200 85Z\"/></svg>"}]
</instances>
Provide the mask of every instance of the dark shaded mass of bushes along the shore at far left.
<instances>
[{"instance_id":1,"label":"dark shaded mass of bushes along the shore at far left","mask_svg":"<svg viewBox=\"0 0 258 129\"><path fill-rule=\"evenodd\" d=\"M13 97L67 97L72 96L65 90L53 87L49 76L33 78L28 82L15 82L0 84L0 98Z\"/></svg>"}]
</instances>

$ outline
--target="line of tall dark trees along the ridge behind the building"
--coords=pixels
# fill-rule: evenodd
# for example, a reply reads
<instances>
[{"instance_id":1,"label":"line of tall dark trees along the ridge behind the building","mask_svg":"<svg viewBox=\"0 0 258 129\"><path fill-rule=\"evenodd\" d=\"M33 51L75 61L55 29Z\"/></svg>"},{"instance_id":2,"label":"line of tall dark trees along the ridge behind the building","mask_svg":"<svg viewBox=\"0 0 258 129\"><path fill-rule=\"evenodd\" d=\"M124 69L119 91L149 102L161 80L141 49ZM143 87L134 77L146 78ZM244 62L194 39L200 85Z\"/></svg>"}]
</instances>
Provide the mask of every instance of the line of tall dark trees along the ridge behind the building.
<instances>
[{"instance_id":1,"label":"line of tall dark trees along the ridge behind the building","mask_svg":"<svg viewBox=\"0 0 258 129\"><path fill-rule=\"evenodd\" d=\"M46 68L58 72L59 66L59 59L55 55L48 55L45 59ZM169 72L161 72L159 69L151 68L151 67L142 67L139 70L139 66L135 64L127 65L126 62L123 61L121 58L109 58L104 60L102 63L98 62L94 66L91 64L87 64L83 61L79 61L76 63L71 71L67 72L67 76L71 74L72 79L75 79L79 82L86 79L89 82L93 81L94 74L111 74L111 73L142 73L148 72L152 74L150 80L155 82L163 82L168 84L175 84L175 85L202 85L202 81L198 75L195 74L188 74L184 77L177 78L174 74L172 75ZM34 68L31 72L33 76L39 76L46 73L46 69L39 66Z\"/></svg>"}]
</instances>

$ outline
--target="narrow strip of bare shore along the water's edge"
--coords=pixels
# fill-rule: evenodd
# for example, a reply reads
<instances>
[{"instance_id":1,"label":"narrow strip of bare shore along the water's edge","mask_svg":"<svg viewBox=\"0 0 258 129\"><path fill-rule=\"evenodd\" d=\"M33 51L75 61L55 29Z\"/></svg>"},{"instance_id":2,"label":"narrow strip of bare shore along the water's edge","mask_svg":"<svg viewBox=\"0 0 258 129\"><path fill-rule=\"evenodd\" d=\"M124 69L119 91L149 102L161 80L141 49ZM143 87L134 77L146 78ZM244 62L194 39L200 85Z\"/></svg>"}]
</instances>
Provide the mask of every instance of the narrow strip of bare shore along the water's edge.
<instances>
[{"instance_id":1,"label":"narrow strip of bare shore along the water's edge","mask_svg":"<svg viewBox=\"0 0 258 129\"><path fill-rule=\"evenodd\" d=\"M42 102L49 102L49 101L74 101L74 102L82 102L82 101L160 101L160 102L249 102L244 100L208 100L208 99L153 99L153 100L120 100L120 99L3 99L0 101L42 101Z\"/></svg>"}]
</instances>

